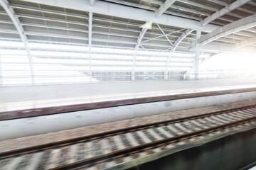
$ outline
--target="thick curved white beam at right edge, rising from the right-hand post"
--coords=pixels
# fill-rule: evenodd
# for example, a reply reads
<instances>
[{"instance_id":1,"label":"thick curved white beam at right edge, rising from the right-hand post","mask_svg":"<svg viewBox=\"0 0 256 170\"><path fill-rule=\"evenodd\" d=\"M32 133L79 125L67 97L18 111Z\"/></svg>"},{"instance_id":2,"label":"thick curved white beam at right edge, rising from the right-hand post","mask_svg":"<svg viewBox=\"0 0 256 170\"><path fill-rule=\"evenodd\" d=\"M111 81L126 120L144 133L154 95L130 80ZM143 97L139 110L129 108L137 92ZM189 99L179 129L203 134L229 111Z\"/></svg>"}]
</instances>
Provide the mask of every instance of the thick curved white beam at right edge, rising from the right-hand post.
<instances>
[{"instance_id":1,"label":"thick curved white beam at right edge, rising from the right-hand post","mask_svg":"<svg viewBox=\"0 0 256 170\"><path fill-rule=\"evenodd\" d=\"M222 38L231 33L236 33L240 30L245 30L247 28L252 28L256 26L256 14L252 16L247 16L246 18L242 18L233 23L229 23L221 28L214 30L211 33L204 35L202 38L198 40L201 45L206 45L213 40L217 40L218 38Z\"/></svg>"}]
</instances>

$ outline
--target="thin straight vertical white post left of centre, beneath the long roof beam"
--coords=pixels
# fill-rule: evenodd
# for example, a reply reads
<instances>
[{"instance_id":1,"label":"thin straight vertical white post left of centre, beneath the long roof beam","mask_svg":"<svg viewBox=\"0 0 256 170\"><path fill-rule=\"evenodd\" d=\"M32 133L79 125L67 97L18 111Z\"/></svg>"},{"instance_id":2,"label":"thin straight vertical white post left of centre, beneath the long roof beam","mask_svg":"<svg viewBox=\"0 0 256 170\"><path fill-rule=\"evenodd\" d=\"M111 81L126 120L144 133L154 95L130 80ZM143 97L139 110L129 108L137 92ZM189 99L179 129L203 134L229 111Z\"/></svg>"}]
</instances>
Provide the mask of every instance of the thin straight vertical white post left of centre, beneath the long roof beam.
<instances>
[{"instance_id":1,"label":"thin straight vertical white post left of centre, beneath the long roof beam","mask_svg":"<svg viewBox=\"0 0 256 170\"><path fill-rule=\"evenodd\" d=\"M89 27L88 27L88 45L89 45L89 76L92 81L92 12L89 12Z\"/></svg>"}]
</instances>

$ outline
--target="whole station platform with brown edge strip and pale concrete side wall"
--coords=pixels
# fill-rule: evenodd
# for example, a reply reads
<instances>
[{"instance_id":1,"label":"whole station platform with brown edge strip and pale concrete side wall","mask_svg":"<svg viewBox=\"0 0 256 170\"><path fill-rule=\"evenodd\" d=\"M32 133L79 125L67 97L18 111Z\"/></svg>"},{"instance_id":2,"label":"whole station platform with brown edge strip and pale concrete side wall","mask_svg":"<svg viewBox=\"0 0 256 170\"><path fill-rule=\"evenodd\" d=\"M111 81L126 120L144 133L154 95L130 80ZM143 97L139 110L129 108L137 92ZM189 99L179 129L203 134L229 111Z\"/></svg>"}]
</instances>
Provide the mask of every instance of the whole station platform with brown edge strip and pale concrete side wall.
<instances>
[{"instance_id":1,"label":"whole station platform with brown edge strip and pale concrete side wall","mask_svg":"<svg viewBox=\"0 0 256 170\"><path fill-rule=\"evenodd\" d=\"M256 79L0 87L0 140L256 98Z\"/></svg>"}]
</instances>

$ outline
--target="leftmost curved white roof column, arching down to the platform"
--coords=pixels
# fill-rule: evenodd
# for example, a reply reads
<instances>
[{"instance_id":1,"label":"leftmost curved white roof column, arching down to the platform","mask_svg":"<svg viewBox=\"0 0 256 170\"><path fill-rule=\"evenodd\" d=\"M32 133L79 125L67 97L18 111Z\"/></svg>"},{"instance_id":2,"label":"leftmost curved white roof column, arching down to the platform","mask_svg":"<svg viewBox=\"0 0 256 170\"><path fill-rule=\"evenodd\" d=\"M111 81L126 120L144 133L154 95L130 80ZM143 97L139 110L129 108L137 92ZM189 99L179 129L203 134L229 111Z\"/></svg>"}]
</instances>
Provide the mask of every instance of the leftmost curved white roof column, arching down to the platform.
<instances>
[{"instance_id":1,"label":"leftmost curved white roof column, arching down to the platform","mask_svg":"<svg viewBox=\"0 0 256 170\"><path fill-rule=\"evenodd\" d=\"M28 46L28 38L24 34L23 27L21 26L21 22L19 21L18 17L15 15L14 10L11 8L9 5L9 2L7 0L0 0L1 6L3 6L4 10L8 14L8 16L11 18L11 21L14 23L14 26L16 27L16 30L18 31L18 34L21 37L22 42L24 43L24 47L26 49L27 55L28 55L28 61L29 61L29 66L31 69L31 79L32 79L32 84L35 83L35 72L33 68L33 59L31 55L31 50Z\"/></svg>"}]
</instances>

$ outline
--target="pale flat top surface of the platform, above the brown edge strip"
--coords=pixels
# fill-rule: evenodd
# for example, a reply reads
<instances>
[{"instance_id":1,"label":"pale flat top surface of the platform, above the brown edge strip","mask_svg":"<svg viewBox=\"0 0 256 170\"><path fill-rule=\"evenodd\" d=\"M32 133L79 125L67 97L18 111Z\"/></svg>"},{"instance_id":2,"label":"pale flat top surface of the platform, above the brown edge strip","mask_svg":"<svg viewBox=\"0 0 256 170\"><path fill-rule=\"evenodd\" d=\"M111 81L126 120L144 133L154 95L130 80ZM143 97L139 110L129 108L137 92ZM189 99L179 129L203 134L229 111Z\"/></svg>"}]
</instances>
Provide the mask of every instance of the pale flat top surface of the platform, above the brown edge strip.
<instances>
[{"instance_id":1,"label":"pale flat top surface of the platform, above the brown edge strip","mask_svg":"<svg viewBox=\"0 0 256 170\"><path fill-rule=\"evenodd\" d=\"M256 87L256 79L122 81L0 87L0 113L24 109L120 101L154 96Z\"/></svg>"}]
</instances>

